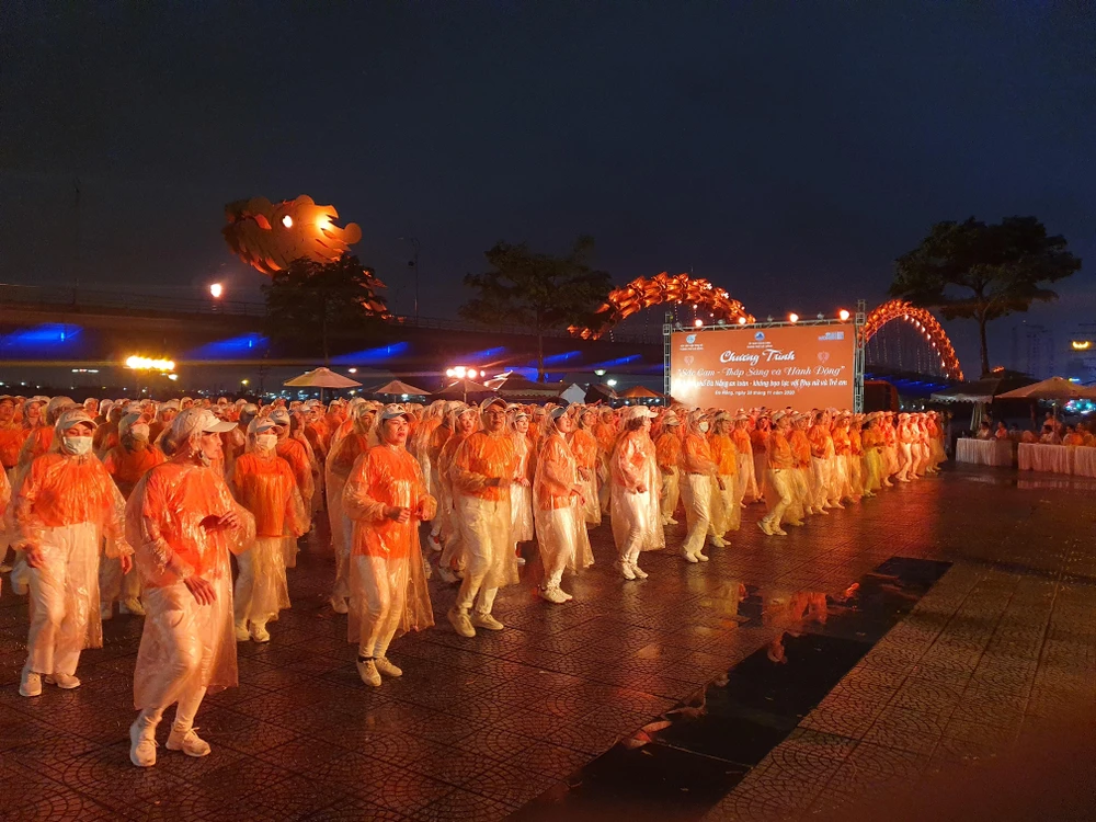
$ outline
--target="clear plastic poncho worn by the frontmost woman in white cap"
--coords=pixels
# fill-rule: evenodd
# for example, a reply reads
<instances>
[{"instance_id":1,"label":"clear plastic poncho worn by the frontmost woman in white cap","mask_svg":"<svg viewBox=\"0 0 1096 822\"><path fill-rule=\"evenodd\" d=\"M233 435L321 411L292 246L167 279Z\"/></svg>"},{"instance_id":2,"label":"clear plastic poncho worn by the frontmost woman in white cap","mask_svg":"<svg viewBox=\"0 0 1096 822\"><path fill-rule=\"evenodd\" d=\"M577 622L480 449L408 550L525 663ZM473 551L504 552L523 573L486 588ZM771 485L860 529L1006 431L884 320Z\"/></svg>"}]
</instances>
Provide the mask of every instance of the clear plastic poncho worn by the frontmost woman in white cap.
<instances>
[{"instance_id":1,"label":"clear plastic poncho worn by the frontmost woman in white cap","mask_svg":"<svg viewBox=\"0 0 1096 822\"><path fill-rule=\"evenodd\" d=\"M236 512L239 527L207 527L209 517L229 512ZM254 517L232 499L217 470L180 457L137 483L126 506L126 534L147 612L134 672L135 707L162 708L203 687L236 685L229 553L242 553L254 541ZM191 575L213 584L212 605L198 605L183 582Z\"/></svg>"}]
</instances>

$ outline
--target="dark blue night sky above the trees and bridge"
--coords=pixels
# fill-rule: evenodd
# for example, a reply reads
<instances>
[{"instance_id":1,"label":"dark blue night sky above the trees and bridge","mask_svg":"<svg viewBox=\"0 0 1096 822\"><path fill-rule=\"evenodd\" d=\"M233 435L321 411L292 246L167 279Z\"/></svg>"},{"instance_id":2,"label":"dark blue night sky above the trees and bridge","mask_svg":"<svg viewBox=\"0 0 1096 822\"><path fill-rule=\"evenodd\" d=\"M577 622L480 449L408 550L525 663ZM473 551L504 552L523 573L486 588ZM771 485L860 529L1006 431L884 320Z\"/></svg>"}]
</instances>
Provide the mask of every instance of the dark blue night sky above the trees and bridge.
<instances>
[{"instance_id":1,"label":"dark blue night sky above the trees and bridge","mask_svg":"<svg viewBox=\"0 0 1096 822\"><path fill-rule=\"evenodd\" d=\"M1096 319L1087 3L136 5L0 4L0 282L253 292L224 204L307 193L392 292L421 240L427 316L580 232L618 283L813 313L934 221L1034 214L1089 264L1031 319Z\"/></svg>"}]
</instances>

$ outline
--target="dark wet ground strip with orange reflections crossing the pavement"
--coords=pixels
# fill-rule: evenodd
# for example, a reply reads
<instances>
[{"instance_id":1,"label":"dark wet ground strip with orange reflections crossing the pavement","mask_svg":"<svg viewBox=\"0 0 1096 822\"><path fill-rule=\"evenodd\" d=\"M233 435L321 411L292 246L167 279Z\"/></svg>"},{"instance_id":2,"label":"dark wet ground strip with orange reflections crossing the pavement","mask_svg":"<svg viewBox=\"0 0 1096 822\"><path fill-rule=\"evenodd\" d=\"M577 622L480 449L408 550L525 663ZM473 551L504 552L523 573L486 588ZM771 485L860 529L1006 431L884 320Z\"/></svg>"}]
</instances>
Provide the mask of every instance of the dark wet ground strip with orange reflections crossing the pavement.
<instances>
[{"instance_id":1,"label":"dark wet ground strip with orange reflections crossing the pavement","mask_svg":"<svg viewBox=\"0 0 1096 822\"><path fill-rule=\"evenodd\" d=\"M835 595L739 585L768 643L535 799L515 820L695 820L741 781L951 563L895 557Z\"/></svg>"}]
</instances>

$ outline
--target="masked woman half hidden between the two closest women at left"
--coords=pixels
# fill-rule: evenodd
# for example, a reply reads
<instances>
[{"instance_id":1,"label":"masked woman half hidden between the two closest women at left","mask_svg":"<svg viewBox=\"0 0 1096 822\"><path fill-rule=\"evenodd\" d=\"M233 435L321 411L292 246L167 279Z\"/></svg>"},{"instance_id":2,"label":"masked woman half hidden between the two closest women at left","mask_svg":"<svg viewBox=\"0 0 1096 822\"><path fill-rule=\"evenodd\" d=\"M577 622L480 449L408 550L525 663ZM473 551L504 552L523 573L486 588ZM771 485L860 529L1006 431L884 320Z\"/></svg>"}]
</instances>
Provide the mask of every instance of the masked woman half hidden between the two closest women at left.
<instances>
[{"instance_id":1,"label":"masked woman half hidden between the two closest women at left","mask_svg":"<svg viewBox=\"0 0 1096 822\"><path fill-rule=\"evenodd\" d=\"M103 467L126 500L140 478L164 460L163 453L149 444L150 436L151 432L144 416L126 414L118 423L118 445L111 448L103 458ZM117 559L105 557L99 564L99 607L104 621L114 616L116 602L119 613L145 616L137 569L130 568L123 573Z\"/></svg>"}]
</instances>

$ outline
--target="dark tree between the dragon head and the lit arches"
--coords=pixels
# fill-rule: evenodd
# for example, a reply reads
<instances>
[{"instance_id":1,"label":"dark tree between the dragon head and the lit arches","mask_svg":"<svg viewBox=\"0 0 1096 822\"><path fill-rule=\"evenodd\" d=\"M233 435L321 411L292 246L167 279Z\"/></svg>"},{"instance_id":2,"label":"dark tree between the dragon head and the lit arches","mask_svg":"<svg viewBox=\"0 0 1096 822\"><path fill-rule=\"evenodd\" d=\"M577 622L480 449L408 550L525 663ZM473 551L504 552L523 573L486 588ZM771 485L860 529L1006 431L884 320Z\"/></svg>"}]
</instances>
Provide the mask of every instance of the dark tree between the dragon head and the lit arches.
<instances>
[{"instance_id":1,"label":"dark tree between the dragon head and the lit arches","mask_svg":"<svg viewBox=\"0 0 1096 822\"><path fill-rule=\"evenodd\" d=\"M486 253L492 270L468 274L465 285L477 296L460 307L460 316L481 326L525 326L537 335L537 379L545 379L546 331L590 324L608 296L612 281L590 265L592 237L581 236L567 256L529 250L528 243L498 242Z\"/></svg>"}]
</instances>

